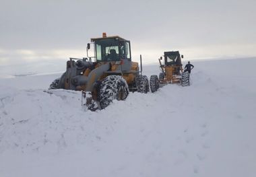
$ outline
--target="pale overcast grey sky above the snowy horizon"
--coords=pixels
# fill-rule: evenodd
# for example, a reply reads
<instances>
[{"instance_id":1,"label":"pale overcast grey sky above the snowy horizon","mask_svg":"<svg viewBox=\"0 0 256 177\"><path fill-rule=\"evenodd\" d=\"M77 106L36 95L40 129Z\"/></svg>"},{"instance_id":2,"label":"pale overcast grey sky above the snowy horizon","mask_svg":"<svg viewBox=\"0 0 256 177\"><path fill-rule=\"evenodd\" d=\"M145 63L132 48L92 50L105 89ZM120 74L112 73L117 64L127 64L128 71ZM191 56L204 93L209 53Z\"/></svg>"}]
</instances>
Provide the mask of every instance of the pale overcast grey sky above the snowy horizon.
<instances>
[{"instance_id":1,"label":"pale overcast grey sky above the snowy horizon","mask_svg":"<svg viewBox=\"0 0 256 177\"><path fill-rule=\"evenodd\" d=\"M86 57L91 37L131 40L135 60L256 56L255 0L0 0L0 65Z\"/></svg>"}]
</instances>

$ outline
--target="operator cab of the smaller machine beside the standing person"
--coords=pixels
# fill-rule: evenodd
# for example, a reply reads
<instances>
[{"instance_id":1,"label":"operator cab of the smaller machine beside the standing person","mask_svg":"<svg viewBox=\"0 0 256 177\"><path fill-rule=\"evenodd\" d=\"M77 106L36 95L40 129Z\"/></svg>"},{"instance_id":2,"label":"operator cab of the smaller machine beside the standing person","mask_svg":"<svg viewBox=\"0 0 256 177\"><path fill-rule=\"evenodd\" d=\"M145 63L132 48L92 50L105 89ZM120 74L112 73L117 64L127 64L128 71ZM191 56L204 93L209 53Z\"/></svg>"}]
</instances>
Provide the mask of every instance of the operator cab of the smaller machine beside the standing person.
<instances>
[{"instance_id":1,"label":"operator cab of the smaller machine beside the standing person","mask_svg":"<svg viewBox=\"0 0 256 177\"><path fill-rule=\"evenodd\" d=\"M183 58L183 55L180 55L179 51L164 52L164 64L166 66L181 66L181 58Z\"/></svg>"}]
</instances>

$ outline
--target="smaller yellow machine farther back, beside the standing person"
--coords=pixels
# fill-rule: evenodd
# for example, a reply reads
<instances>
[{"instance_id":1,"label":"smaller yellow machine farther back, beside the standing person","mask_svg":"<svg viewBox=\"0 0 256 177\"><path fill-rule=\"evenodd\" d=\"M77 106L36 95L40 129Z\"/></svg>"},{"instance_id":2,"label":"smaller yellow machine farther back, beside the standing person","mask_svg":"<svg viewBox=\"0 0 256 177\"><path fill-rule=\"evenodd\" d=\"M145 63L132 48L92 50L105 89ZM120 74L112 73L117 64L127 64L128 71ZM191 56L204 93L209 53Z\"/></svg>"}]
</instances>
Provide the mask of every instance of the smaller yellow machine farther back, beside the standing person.
<instances>
[{"instance_id":1,"label":"smaller yellow machine farther back, beside the standing person","mask_svg":"<svg viewBox=\"0 0 256 177\"><path fill-rule=\"evenodd\" d=\"M162 64L162 57L158 59L160 63L159 79L157 75L150 77L150 89L156 92L159 87L167 83L181 83L183 86L189 86L189 73L183 72L181 63L183 55L179 51L164 52L164 64Z\"/></svg>"}]
</instances>

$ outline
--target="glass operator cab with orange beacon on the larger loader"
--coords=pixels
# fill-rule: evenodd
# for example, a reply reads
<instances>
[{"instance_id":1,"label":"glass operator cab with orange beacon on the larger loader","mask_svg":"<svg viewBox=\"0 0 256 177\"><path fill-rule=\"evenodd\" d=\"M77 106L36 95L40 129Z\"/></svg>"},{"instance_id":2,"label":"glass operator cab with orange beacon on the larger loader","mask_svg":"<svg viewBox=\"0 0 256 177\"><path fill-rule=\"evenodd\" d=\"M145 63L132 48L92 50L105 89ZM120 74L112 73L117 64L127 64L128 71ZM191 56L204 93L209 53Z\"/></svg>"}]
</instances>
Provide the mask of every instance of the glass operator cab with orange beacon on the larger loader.
<instances>
[{"instance_id":1,"label":"glass operator cab with orange beacon on the larger loader","mask_svg":"<svg viewBox=\"0 0 256 177\"><path fill-rule=\"evenodd\" d=\"M97 62L131 61L131 45L129 40L119 36L103 34L102 38L92 38Z\"/></svg>"}]
</instances>

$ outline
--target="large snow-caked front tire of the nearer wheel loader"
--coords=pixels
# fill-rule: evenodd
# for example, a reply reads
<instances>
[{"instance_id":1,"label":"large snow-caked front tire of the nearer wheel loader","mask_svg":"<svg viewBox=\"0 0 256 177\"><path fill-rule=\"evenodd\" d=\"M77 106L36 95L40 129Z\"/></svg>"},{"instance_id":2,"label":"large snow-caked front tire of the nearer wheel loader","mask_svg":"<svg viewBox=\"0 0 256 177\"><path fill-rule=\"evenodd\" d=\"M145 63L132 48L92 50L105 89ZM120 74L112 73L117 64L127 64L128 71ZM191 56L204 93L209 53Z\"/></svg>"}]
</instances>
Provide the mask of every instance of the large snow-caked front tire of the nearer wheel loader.
<instances>
[{"instance_id":1,"label":"large snow-caked front tire of the nearer wheel loader","mask_svg":"<svg viewBox=\"0 0 256 177\"><path fill-rule=\"evenodd\" d=\"M120 75L108 75L100 83L98 102L102 109L113 100L125 100L129 94L127 82Z\"/></svg>"}]
</instances>

